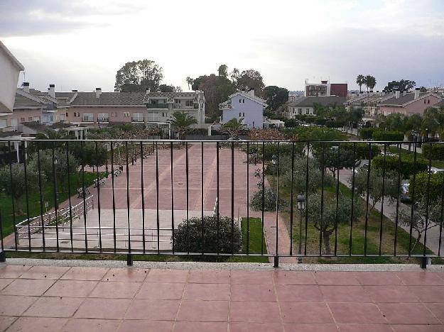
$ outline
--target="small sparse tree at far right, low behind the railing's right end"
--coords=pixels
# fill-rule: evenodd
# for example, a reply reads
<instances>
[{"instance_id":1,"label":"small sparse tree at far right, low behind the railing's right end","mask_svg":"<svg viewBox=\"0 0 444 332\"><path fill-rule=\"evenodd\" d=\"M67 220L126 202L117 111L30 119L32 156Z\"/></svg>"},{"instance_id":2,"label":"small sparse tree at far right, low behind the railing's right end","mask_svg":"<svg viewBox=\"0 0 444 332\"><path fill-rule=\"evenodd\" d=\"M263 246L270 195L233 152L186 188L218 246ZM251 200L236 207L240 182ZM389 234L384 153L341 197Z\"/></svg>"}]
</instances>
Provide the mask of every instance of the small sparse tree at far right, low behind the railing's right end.
<instances>
[{"instance_id":1,"label":"small sparse tree at far right, low behind the railing's right end","mask_svg":"<svg viewBox=\"0 0 444 332\"><path fill-rule=\"evenodd\" d=\"M416 231L416 240L411 248L412 253L414 253L423 233L435 226L440 226L442 222L441 207L437 201L427 202L426 199L422 199L413 210L413 218L411 217L411 211L399 211L399 223L402 226L411 226L413 231Z\"/></svg>"}]
</instances>

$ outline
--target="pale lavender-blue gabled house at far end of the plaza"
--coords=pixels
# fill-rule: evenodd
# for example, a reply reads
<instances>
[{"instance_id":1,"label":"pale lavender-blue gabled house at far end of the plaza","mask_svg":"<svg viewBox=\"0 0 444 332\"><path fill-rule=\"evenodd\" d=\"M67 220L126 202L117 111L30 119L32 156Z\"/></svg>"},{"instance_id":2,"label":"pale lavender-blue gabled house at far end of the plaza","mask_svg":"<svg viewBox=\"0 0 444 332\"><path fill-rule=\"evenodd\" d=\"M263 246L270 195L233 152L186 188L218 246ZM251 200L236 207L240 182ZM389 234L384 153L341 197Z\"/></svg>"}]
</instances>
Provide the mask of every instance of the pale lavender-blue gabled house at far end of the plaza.
<instances>
[{"instance_id":1,"label":"pale lavender-blue gabled house at far end of the plaza","mask_svg":"<svg viewBox=\"0 0 444 332\"><path fill-rule=\"evenodd\" d=\"M249 92L239 91L219 105L222 110L221 123L227 123L232 118L244 119L247 128L262 128L264 123L264 109L267 104L264 99L254 96L254 89Z\"/></svg>"}]
</instances>

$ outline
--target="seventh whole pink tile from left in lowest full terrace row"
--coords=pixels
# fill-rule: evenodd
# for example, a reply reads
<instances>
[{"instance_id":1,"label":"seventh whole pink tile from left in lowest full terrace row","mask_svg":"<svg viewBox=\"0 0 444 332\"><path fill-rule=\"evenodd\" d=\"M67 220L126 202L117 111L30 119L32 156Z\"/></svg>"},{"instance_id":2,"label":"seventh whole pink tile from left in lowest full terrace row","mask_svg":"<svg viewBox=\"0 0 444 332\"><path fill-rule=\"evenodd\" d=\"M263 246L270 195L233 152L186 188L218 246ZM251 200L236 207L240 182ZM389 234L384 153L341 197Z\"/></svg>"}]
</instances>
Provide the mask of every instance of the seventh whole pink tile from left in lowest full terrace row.
<instances>
[{"instance_id":1,"label":"seventh whole pink tile from left in lowest full terrace row","mask_svg":"<svg viewBox=\"0 0 444 332\"><path fill-rule=\"evenodd\" d=\"M371 303L330 303L329 306L337 323L387 323L377 306Z\"/></svg>"}]
</instances>

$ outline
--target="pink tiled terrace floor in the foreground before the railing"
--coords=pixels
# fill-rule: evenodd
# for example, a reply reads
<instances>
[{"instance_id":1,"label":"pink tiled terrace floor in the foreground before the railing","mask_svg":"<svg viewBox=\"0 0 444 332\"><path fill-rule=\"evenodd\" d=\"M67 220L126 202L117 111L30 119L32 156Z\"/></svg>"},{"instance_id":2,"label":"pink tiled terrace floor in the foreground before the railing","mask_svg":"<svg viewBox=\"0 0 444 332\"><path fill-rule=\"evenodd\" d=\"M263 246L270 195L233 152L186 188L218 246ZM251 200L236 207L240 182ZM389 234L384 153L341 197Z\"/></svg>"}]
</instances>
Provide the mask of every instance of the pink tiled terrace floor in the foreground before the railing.
<instances>
[{"instance_id":1,"label":"pink tiled terrace floor in the foreground before the railing","mask_svg":"<svg viewBox=\"0 0 444 332\"><path fill-rule=\"evenodd\" d=\"M0 265L0 331L444 331L444 272L418 267L18 262Z\"/></svg>"}]
</instances>

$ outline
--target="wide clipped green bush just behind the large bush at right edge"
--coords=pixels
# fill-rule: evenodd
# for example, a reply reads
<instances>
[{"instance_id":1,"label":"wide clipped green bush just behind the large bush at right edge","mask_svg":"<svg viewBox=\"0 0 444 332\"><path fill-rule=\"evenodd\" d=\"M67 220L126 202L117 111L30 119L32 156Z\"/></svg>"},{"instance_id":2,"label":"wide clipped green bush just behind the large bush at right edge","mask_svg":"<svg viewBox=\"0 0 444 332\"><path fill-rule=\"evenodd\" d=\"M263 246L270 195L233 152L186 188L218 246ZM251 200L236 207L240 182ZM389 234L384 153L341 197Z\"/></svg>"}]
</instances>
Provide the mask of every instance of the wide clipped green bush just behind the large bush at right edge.
<instances>
[{"instance_id":1,"label":"wide clipped green bush just behind the large bush at right edge","mask_svg":"<svg viewBox=\"0 0 444 332\"><path fill-rule=\"evenodd\" d=\"M379 155L373 158L373 165L376 168L384 168L384 155ZM408 179L414 173L425 172L428 168L428 162L425 159L418 158L416 163L413 157L409 155L401 155L401 175L404 179ZM391 170L398 172L399 169L399 157L387 156L386 157L386 171Z\"/></svg>"}]
</instances>

